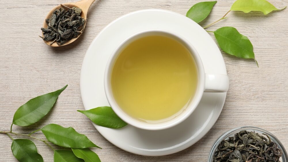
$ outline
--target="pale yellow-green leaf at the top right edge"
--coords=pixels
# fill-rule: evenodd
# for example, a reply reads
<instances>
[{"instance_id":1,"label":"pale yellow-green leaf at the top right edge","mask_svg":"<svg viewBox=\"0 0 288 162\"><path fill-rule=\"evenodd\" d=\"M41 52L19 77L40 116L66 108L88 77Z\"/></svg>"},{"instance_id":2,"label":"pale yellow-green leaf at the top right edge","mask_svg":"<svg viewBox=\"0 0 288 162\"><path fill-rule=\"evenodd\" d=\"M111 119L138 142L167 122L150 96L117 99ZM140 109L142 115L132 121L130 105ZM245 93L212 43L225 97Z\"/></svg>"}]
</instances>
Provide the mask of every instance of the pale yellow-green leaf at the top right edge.
<instances>
[{"instance_id":1,"label":"pale yellow-green leaf at the top right edge","mask_svg":"<svg viewBox=\"0 0 288 162\"><path fill-rule=\"evenodd\" d=\"M276 7L274 7L274 5L272 5L266 0L237 0L233 3L230 10L242 11L245 13L251 11L261 11L263 12L264 15L267 15L274 10L282 10L282 9L277 9Z\"/></svg>"}]
</instances>

